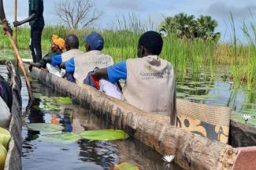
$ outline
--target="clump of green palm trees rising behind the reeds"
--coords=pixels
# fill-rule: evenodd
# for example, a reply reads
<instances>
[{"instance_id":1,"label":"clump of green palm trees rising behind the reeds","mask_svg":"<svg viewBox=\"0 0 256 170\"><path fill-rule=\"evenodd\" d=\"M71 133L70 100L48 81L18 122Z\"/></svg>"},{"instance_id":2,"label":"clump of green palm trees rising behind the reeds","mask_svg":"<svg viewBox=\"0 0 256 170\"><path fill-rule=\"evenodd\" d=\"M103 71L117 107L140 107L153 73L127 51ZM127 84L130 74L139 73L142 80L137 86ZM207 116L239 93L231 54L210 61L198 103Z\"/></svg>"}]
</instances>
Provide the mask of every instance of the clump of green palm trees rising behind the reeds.
<instances>
[{"instance_id":1,"label":"clump of green palm trees rising behind the reeds","mask_svg":"<svg viewBox=\"0 0 256 170\"><path fill-rule=\"evenodd\" d=\"M202 38L218 41L221 33L215 33L217 21L211 16L199 16L179 13L176 16L165 17L160 24L160 31L165 34L174 34L177 38Z\"/></svg>"}]
</instances>

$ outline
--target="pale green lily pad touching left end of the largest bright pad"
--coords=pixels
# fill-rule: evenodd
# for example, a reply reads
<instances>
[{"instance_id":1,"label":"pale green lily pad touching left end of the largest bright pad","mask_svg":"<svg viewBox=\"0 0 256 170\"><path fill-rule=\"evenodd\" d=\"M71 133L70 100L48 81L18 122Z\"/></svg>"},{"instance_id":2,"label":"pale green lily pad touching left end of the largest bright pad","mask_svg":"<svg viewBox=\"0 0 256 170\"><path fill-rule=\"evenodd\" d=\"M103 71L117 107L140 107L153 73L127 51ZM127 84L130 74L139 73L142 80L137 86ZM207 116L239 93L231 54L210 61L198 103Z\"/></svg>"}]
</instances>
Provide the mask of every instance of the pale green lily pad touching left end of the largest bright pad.
<instances>
[{"instance_id":1,"label":"pale green lily pad touching left end of the largest bright pad","mask_svg":"<svg viewBox=\"0 0 256 170\"><path fill-rule=\"evenodd\" d=\"M62 132L58 134L48 134L45 136L47 138L50 138L51 141L54 143L64 143L64 144L76 143L79 139L81 139L81 136L73 132Z\"/></svg>"}]
</instances>

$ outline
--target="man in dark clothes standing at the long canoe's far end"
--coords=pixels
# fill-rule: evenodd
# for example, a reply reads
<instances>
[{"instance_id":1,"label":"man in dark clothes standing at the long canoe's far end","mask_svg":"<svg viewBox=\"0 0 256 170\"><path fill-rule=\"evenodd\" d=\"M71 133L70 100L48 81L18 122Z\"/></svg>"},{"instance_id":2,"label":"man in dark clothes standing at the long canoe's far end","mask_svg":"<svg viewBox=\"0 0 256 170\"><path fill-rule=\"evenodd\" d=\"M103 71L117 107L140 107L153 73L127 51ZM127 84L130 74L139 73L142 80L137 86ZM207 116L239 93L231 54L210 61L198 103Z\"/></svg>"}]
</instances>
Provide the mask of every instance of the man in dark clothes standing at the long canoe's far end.
<instances>
[{"instance_id":1,"label":"man in dark clothes standing at the long canoe's far end","mask_svg":"<svg viewBox=\"0 0 256 170\"><path fill-rule=\"evenodd\" d=\"M28 23L31 27L30 49L34 63L42 60L41 37L44 27L43 19L43 0L28 0L28 18L13 22L13 26L17 27Z\"/></svg>"}]
</instances>

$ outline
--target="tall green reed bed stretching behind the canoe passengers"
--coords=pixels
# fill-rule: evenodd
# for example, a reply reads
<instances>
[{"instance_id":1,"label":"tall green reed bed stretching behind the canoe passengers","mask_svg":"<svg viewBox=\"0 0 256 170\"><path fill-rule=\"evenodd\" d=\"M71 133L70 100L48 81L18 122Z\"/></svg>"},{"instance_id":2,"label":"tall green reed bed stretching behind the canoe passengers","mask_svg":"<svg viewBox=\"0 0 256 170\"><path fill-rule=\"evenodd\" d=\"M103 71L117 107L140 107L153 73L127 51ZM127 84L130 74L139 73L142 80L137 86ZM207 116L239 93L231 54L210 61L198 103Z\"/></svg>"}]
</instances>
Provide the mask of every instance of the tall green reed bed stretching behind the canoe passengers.
<instances>
[{"instance_id":1,"label":"tall green reed bed stretching behind the canoe passengers","mask_svg":"<svg viewBox=\"0 0 256 170\"><path fill-rule=\"evenodd\" d=\"M130 28L128 30L120 28L120 30L98 31L105 38L103 52L113 56L115 63L136 56L137 43L142 34L139 29L132 31ZM80 38L80 49L84 50L83 34L89 34L91 31L95 30L72 30L63 26L47 25L43 30L43 51L49 51L52 34L58 34L61 38L65 38L68 34L76 34ZM215 64L230 64L232 68L227 75L233 79L235 88L244 85L247 90L256 89L256 29L253 24L244 25L243 32L248 40L245 45L237 43L236 30L233 31L234 38L231 43L216 43L202 39L178 39L169 35L164 38L161 58L169 60L175 67L176 73L181 75L186 75L189 68L195 74L204 71L213 77ZM29 27L19 27L19 48L28 49L29 41ZM0 48L11 48L9 40L2 30L0 31Z\"/></svg>"}]
</instances>

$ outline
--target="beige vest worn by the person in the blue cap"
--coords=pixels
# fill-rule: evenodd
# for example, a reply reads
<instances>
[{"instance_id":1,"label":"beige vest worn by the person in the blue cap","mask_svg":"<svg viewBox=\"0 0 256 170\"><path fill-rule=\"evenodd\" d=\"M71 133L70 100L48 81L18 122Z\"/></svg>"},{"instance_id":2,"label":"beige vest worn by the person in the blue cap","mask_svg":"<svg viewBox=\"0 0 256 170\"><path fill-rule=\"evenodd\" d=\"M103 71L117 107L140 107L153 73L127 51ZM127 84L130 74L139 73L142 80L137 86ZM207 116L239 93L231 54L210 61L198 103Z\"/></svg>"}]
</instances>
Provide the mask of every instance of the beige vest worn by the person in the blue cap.
<instances>
[{"instance_id":1,"label":"beige vest worn by the person in the blue cap","mask_svg":"<svg viewBox=\"0 0 256 170\"><path fill-rule=\"evenodd\" d=\"M111 65L113 65L112 57L102 54L101 51L93 50L75 56L74 78L76 78L76 83L83 84L84 78L86 78L87 74L93 71L95 67L104 68Z\"/></svg>"}]
</instances>

